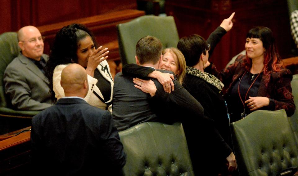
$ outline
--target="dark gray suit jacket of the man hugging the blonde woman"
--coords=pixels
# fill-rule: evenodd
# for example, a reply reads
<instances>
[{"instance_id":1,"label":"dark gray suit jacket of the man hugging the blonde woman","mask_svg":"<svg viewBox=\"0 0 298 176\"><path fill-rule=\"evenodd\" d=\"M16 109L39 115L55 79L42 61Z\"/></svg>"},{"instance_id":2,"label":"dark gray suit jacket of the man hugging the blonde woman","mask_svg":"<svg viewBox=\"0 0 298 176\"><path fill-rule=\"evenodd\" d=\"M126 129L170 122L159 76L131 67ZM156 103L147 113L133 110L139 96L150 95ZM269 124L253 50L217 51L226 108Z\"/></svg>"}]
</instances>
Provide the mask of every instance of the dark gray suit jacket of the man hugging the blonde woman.
<instances>
[{"instance_id":1,"label":"dark gray suit jacket of the man hugging the blonde woman","mask_svg":"<svg viewBox=\"0 0 298 176\"><path fill-rule=\"evenodd\" d=\"M149 68L149 67L147 67ZM152 68L153 69L153 68ZM163 73L172 73L159 70ZM173 74L173 73L172 73ZM134 76L135 77L135 76ZM202 118L204 109L201 104L193 98L175 78L174 91L166 93L162 85L156 80L156 93L153 97L134 87L133 76L117 73L113 88L113 118L118 130L126 130L129 127L146 121L177 121L171 114L175 112L186 116L195 114ZM168 110L171 109L171 114Z\"/></svg>"}]
</instances>

